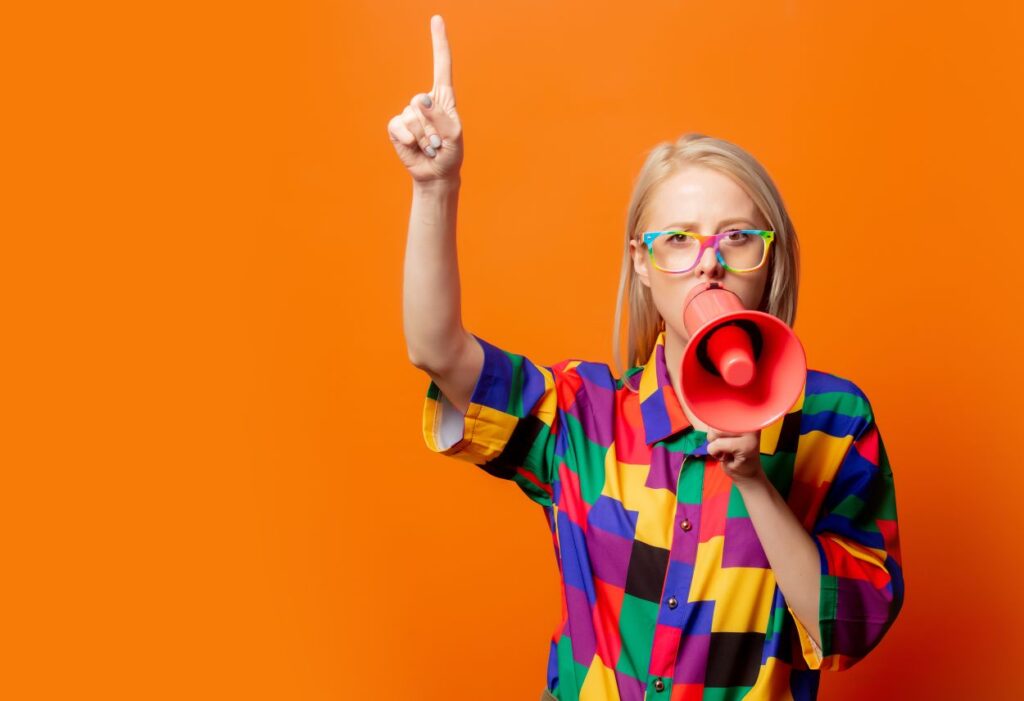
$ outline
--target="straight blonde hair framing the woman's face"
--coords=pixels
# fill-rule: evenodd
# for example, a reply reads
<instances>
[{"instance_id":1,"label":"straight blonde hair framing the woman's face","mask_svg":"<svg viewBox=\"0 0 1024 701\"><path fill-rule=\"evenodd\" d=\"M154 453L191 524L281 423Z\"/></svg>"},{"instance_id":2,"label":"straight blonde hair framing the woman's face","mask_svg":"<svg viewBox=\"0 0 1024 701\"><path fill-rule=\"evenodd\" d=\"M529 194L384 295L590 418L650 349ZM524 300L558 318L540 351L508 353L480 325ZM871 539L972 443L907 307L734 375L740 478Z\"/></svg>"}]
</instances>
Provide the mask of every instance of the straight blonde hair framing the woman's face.
<instances>
[{"instance_id":1,"label":"straight blonde hair framing the woman's face","mask_svg":"<svg viewBox=\"0 0 1024 701\"><path fill-rule=\"evenodd\" d=\"M793 326L797 316L797 287L800 280L797 231L768 172L749 152L723 139L690 133L675 143L664 141L651 149L640 169L626 217L626 246L611 341L620 377L623 375L620 340L624 292L629 291L629 354L626 367L646 363L658 334L665 328L665 319L654 307L650 289L643 284L633 269L630 240L639 239L643 233L647 207L658 185L688 165L705 166L732 177L754 201L768 228L775 232L767 262L768 282L758 310L777 316L790 326Z\"/></svg>"}]
</instances>

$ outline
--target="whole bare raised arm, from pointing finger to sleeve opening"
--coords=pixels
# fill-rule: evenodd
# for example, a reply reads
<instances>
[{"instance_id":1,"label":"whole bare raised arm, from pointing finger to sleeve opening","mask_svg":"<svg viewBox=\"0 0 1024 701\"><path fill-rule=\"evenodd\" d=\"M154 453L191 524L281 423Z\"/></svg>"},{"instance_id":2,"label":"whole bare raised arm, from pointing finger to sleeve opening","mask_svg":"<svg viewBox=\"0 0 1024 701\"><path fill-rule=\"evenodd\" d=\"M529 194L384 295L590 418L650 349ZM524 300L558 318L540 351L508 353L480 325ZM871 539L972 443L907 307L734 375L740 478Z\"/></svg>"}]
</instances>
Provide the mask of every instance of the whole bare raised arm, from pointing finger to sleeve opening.
<instances>
[{"instance_id":1,"label":"whole bare raised arm, from pointing finger to sleeve opening","mask_svg":"<svg viewBox=\"0 0 1024 701\"><path fill-rule=\"evenodd\" d=\"M388 136L413 176L406 244L402 323L410 361L426 371L460 411L483 366L483 349L462 325L456 216L463 160L452 53L444 23L430 18L434 84L388 122Z\"/></svg>"}]
</instances>

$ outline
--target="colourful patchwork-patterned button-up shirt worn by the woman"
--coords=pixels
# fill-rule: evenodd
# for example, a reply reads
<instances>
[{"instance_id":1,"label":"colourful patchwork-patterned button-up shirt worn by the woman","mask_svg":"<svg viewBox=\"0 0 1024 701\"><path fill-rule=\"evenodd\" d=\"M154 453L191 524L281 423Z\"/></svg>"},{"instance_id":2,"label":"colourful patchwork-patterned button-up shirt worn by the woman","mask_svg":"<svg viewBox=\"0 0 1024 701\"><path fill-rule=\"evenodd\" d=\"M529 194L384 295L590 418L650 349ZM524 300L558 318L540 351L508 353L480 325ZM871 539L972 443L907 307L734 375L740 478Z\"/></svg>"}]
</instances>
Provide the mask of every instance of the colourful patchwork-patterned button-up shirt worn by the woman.
<instances>
[{"instance_id":1,"label":"colourful patchwork-patterned button-up shirt worn by the woman","mask_svg":"<svg viewBox=\"0 0 1024 701\"><path fill-rule=\"evenodd\" d=\"M761 431L769 481L821 563L820 651L741 495L686 420L665 362L539 366L476 337L466 414L430 383L428 447L515 482L543 507L561 577L547 689L561 701L815 699L822 669L873 649L903 602L892 470L864 394L808 370Z\"/></svg>"}]
</instances>

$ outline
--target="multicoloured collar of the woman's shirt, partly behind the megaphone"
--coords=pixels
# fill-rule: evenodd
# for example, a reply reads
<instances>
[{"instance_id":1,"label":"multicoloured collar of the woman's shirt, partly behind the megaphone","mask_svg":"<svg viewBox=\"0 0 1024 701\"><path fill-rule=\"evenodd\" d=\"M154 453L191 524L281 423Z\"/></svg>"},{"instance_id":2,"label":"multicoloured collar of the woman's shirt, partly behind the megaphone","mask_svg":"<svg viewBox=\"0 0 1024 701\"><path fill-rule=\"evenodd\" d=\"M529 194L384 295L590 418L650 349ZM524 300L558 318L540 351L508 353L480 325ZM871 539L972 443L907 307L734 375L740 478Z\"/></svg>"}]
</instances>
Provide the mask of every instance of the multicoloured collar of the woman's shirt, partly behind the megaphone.
<instances>
[{"instance_id":1,"label":"multicoloured collar of the woman's shirt, partly behind the megaphone","mask_svg":"<svg viewBox=\"0 0 1024 701\"><path fill-rule=\"evenodd\" d=\"M676 391L672 387L672 380L665 361L664 331L657 335L650 357L640 374L639 398L640 417L643 421L644 440L647 445L653 445L688 428L696 431L696 428L691 426L686 414L683 413L679 397L676 396ZM800 411L803 405L804 392L801 391L797 403L786 413ZM785 417L781 417L761 430L762 454L772 455L775 453L784 420ZM705 452L703 448L698 452Z\"/></svg>"}]
</instances>

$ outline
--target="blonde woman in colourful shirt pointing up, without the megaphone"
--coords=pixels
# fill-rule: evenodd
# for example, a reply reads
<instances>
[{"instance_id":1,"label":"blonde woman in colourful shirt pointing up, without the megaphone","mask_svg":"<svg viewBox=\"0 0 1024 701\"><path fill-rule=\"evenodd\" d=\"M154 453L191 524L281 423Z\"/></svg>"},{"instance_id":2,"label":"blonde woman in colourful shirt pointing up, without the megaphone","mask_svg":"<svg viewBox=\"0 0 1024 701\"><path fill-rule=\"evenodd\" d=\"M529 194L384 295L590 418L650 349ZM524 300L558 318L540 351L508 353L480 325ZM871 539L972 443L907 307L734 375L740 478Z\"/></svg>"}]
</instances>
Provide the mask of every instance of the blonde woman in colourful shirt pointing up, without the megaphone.
<instances>
[{"instance_id":1,"label":"blonde woman in colourful shirt pointing up, without the megaphone","mask_svg":"<svg viewBox=\"0 0 1024 701\"><path fill-rule=\"evenodd\" d=\"M903 602L870 404L811 369L784 417L724 433L693 414L677 371L697 284L793 324L797 234L771 178L721 139L658 144L626 226L613 340L617 361L626 306L626 369L503 350L462 325L462 125L439 16L431 33L433 89L388 125L414 184L404 333L430 378L428 447L514 482L547 516L562 617L542 698L816 698L820 671L862 659Z\"/></svg>"}]
</instances>

